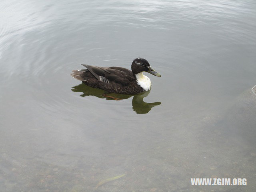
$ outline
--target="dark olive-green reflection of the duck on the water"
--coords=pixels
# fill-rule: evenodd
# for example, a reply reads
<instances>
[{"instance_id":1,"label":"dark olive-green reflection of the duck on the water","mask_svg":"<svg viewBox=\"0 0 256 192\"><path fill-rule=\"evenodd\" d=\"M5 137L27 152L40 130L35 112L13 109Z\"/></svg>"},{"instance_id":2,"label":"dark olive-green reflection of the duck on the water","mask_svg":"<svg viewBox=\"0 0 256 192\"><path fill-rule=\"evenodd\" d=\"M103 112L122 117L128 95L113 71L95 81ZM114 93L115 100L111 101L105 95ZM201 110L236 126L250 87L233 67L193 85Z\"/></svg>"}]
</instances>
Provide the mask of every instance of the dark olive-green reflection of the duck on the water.
<instances>
[{"instance_id":1,"label":"dark olive-green reflection of the duck on the water","mask_svg":"<svg viewBox=\"0 0 256 192\"><path fill-rule=\"evenodd\" d=\"M161 102L147 103L143 101L143 98L148 96L150 90L137 95L124 95L116 93L107 94L104 90L91 88L89 86L86 86L84 83L72 87L71 90L74 92L82 92L83 94L80 95L81 97L96 96L98 98L105 98L106 100L116 100L116 98L118 98L118 100L122 100L128 99L133 96L132 109L138 114L146 114L151 110L152 107L161 104Z\"/></svg>"}]
</instances>

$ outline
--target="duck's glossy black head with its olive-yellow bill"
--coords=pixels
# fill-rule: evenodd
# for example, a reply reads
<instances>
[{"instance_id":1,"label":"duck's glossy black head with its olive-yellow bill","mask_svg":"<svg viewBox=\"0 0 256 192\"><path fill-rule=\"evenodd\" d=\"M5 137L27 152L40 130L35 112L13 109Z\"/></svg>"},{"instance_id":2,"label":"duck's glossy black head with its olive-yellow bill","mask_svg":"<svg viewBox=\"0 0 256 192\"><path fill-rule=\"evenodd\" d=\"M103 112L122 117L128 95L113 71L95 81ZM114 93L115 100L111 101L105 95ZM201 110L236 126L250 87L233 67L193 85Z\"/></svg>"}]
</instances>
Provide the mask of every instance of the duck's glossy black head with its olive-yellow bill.
<instances>
[{"instance_id":1,"label":"duck's glossy black head with its olive-yellow bill","mask_svg":"<svg viewBox=\"0 0 256 192\"><path fill-rule=\"evenodd\" d=\"M134 75L139 74L141 72L148 72L151 73L152 75L160 77L161 75L153 70L148 63L148 61L144 58L136 58L132 62L132 73Z\"/></svg>"}]
</instances>

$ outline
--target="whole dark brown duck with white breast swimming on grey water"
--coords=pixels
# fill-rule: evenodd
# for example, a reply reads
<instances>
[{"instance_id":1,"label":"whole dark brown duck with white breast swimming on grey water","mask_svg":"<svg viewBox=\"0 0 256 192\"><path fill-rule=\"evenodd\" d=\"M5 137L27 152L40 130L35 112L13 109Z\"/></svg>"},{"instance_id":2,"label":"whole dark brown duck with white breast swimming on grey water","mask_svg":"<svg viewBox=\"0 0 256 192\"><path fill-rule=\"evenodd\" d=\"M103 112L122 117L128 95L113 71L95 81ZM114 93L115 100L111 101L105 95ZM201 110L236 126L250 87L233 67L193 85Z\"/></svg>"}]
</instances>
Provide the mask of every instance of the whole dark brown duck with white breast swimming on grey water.
<instances>
[{"instance_id":1,"label":"whole dark brown duck with white breast swimming on grey water","mask_svg":"<svg viewBox=\"0 0 256 192\"><path fill-rule=\"evenodd\" d=\"M122 67L96 67L82 64L87 69L72 71L72 77L84 82L87 86L100 88L110 93L139 94L151 88L150 78L143 72L160 77L144 58L132 62L132 71Z\"/></svg>"}]
</instances>

